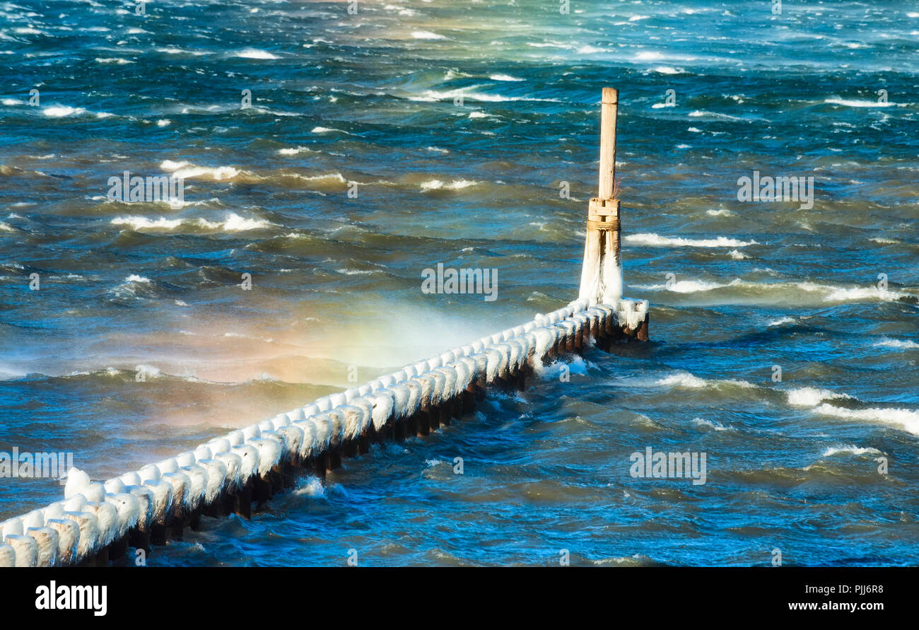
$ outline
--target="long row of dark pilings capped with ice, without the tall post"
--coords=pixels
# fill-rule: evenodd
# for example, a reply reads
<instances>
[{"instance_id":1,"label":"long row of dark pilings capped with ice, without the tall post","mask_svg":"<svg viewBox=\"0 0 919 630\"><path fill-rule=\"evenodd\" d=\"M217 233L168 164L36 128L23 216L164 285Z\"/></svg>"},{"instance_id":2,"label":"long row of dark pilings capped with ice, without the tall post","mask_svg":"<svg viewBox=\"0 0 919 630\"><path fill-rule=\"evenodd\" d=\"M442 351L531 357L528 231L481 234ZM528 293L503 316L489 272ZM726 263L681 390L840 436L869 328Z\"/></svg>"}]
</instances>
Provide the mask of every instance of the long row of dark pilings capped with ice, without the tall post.
<instances>
[{"instance_id":1,"label":"long row of dark pilings capped with ice, without the tall post","mask_svg":"<svg viewBox=\"0 0 919 630\"><path fill-rule=\"evenodd\" d=\"M591 343L608 350L621 340L647 338L647 302L623 300L613 307L589 306L584 300L574 302L559 311L538 315L525 326L482 338L470 346L348 390L337 398L326 396L328 400L320 399L311 406L253 425L264 426L265 430L233 431L194 452L165 460L159 468L144 466L140 471L143 475L130 473L109 480L104 484L102 501L83 501L81 494L0 523L0 536L5 539L0 544L0 567L130 564L134 559L129 556L130 548L149 553L153 547L181 540L186 529L199 530L202 516L220 518L238 514L251 518L253 506L259 510L274 495L293 487L298 475L305 473L324 479L341 467L343 459L368 452L374 442L425 437L459 421L474 411L490 386L522 391L527 378L538 367L537 361L553 361L565 354L581 352ZM456 381L449 380L453 372ZM441 381L437 381L438 373ZM463 375L461 381L459 375ZM440 394L434 396L435 390L429 390L428 397L419 399L414 411L402 413L410 404L400 397L403 390L396 392L396 389L404 386L405 390L424 393L422 385L431 383L441 387L437 390ZM452 384L450 388L448 384ZM381 407L385 417L374 415L379 410L376 403L369 407L366 399L372 396L378 396L378 401L391 400L391 407ZM339 402L334 405L335 400ZM366 407L363 415L358 413L360 405ZM363 418L360 430L352 437L347 436L347 427L340 422L330 425L329 419L323 418L323 414L332 417L336 413L345 418L342 410L346 407L356 417ZM312 415L307 417L304 409ZM335 434L320 439L315 427L323 423L335 428ZM312 431L311 439L319 444L318 448L311 450L312 445L304 448L304 429ZM226 448L235 433L257 437ZM234 441L239 441L239 437ZM218 449L225 452L217 452ZM255 456L258 449L267 453L265 461ZM277 458L271 453L277 453ZM242 468L231 470L231 467L244 465L244 457L250 455L249 464L255 461L257 468L253 467L242 478L239 475ZM180 467L178 462L192 463ZM190 488L194 484L190 482L202 474L198 469L204 471L205 481L204 486L199 483L193 498ZM163 472L166 470L169 472ZM131 481L138 484L125 483ZM87 487L86 494L99 490L99 485L101 482L92 482L90 486L96 487ZM156 518L153 518L154 507L162 510ZM78 535L74 535L74 530L78 530ZM86 535L95 538L82 539Z\"/></svg>"}]
</instances>

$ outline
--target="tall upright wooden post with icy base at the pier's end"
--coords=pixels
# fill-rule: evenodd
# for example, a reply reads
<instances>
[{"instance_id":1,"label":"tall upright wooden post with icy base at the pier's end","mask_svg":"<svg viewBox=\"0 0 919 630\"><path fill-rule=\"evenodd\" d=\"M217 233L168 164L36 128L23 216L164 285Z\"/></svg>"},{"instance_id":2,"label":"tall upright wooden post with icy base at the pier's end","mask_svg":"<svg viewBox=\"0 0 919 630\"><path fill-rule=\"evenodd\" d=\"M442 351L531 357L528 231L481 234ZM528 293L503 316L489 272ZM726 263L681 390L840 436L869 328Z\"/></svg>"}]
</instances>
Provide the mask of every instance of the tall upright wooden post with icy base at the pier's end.
<instances>
[{"instance_id":1,"label":"tall upright wooden post with icy base at the pier's end","mask_svg":"<svg viewBox=\"0 0 919 630\"><path fill-rule=\"evenodd\" d=\"M587 237L578 297L615 304L622 297L619 200L616 199L616 117L619 93L604 87L600 105L600 176L597 197L587 206Z\"/></svg>"}]
</instances>

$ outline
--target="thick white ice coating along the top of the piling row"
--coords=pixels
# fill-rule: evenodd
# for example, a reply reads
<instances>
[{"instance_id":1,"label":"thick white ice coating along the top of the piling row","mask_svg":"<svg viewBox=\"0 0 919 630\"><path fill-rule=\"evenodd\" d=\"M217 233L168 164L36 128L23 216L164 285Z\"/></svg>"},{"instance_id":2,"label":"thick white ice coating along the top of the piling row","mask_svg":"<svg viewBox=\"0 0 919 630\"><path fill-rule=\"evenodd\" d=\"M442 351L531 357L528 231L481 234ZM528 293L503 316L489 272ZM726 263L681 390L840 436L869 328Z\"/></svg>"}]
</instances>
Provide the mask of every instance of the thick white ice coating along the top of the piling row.
<instances>
[{"instance_id":1,"label":"thick white ice coating along the top of the piling row","mask_svg":"<svg viewBox=\"0 0 919 630\"><path fill-rule=\"evenodd\" d=\"M604 334L614 323L635 330L647 314L646 301L579 300L104 483L74 468L64 500L0 523L0 535L14 543L0 543L0 567L78 563L131 527L147 531L153 521L184 516L243 487L253 475L264 477L279 462L318 455L371 426L381 430L391 420L453 399L471 383L492 383L553 349L564 351L597 330Z\"/></svg>"}]
</instances>

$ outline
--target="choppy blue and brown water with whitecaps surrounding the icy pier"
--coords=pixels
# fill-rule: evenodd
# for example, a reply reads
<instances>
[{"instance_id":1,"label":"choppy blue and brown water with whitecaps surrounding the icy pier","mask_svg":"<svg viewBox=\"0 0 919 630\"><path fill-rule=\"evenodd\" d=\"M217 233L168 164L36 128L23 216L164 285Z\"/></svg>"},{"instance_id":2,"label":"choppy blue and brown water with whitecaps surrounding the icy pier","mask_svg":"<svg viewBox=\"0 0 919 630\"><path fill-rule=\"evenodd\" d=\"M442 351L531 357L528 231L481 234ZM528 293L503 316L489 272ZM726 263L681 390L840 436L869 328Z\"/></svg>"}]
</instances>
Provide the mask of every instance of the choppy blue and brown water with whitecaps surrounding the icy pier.
<instances>
[{"instance_id":1,"label":"choppy blue and brown water with whitecaps surrounding the icy pier","mask_svg":"<svg viewBox=\"0 0 919 630\"><path fill-rule=\"evenodd\" d=\"M652 342L152 562L916 564L919 8L784 5L0 4L0 447L108 478L568 302L618 86ZM184 207L107 200L124 170ZM812 209L739 202L754 170ZM423 294L438 262L498 299ZM707 483L632 478L646 447ZM0 517L61 493L2 480Z\"/></svg>"}]
</instances>

